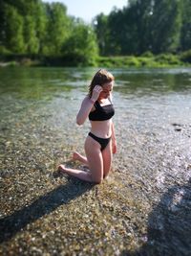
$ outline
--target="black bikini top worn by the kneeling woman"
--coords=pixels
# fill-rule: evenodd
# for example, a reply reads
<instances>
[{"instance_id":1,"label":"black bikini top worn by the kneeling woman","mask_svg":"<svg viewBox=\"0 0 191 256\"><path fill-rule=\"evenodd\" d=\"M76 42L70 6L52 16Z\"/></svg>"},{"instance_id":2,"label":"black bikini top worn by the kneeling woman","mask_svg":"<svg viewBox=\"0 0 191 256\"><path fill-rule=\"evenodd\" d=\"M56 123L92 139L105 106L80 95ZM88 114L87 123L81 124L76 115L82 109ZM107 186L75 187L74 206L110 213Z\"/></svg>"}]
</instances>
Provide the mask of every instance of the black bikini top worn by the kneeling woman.
<instances>
[{"instance_id":1,"label":"black bikini top worn by the kneeling woman","mask_svg":"<svg viewBox=\"0 0 191 256\"><path fill-rule=\"evenodd\" d=\"M114 105L101 106L98 101L95 103L95 110L90 112L89 120L91 121L104 121L112 118L115 114Z\"/></svg>"}]
</instances>

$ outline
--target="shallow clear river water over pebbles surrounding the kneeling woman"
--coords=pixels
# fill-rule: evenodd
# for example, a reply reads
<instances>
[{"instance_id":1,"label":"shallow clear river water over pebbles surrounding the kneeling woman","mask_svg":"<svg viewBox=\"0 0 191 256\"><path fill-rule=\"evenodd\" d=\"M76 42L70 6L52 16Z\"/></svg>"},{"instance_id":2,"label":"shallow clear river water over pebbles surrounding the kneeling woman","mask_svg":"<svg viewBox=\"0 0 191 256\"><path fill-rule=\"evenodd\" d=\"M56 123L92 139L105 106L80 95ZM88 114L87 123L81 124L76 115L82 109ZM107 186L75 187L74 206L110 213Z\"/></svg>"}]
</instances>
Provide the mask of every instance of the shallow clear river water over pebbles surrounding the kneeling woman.
<instances>
[{"instance_id":1,"label":"shallow clear river water over pebbles surrounding the kneeling woman","mask_svg":"<svg viewBox=\"0 0 191 256\"><path fill-rule=\"evenodd\" d=\"M92 186L55 171L84 153L96 69L0 69L0 254L190 254L191 69L110 71L117 154Z\"/></svg>"}]
</instances>

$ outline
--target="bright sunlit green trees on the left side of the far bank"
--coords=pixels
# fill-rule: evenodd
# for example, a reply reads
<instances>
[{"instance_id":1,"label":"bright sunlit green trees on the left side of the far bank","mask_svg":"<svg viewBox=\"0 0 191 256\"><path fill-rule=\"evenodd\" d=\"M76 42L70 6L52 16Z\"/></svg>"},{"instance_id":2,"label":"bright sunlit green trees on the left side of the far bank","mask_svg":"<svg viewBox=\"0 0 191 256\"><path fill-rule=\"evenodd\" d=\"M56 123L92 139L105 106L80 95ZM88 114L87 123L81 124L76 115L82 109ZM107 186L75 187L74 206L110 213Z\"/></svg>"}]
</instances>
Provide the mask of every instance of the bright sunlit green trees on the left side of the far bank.
<instances>
[{"instance_id":1,"label":"bright sunlit green trees on the left side of the far bank","mask_svg":"<svg viewBox=\"0 0 191 256\"><path fill-rule=\"evenodd\" d=\"M65 5L41 0L1 0L1 55L38 56L47 61L57 58L89 65L94 64L97 51L93 27L67 15Z\"/></svg>"}]
</instances>

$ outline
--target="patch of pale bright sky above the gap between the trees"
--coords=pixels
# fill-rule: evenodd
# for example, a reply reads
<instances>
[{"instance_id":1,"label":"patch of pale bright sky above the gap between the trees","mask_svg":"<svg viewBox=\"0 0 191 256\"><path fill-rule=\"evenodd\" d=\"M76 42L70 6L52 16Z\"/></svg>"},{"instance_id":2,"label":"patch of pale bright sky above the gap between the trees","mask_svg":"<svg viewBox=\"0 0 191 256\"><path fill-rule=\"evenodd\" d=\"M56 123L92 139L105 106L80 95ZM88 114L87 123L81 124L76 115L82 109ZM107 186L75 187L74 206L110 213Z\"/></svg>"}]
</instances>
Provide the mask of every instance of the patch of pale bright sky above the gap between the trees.
<instances>
[{"instance_id":1,"label":"patch of pale bright sky above the gap between the trees","mask_svg":"<svg viewBox=\"0 0 191 256\"><path fill-rule=\"evenodd\" d=\"M43 0L43 2L61 2L67 7L67 14L91 22L100 12L107 15L114 7L122 9L127 6L128 0Z\"/></svg>"}]
</instances>

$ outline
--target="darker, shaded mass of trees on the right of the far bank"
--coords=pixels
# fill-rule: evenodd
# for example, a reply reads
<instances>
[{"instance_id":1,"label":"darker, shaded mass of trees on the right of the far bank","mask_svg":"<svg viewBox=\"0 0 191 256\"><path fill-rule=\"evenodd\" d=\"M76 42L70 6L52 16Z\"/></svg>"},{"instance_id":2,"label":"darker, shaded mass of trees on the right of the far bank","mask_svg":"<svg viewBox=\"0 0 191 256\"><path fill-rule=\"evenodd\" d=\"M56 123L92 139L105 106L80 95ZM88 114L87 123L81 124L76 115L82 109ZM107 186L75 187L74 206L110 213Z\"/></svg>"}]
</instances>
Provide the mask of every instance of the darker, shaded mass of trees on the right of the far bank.
<instances>
[{"instance_id":1,"label":"darker, shaded mass of trees on the right of the far bank","mask_svg":"<svg viewBox=\"0 0 191 256\"><path fill-rule=\"evenodd\" d=\"M102 56L177 53L191 49L190 0L129 0L95 18Z\"/></svg>"}]
</instances>

